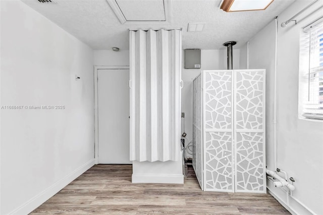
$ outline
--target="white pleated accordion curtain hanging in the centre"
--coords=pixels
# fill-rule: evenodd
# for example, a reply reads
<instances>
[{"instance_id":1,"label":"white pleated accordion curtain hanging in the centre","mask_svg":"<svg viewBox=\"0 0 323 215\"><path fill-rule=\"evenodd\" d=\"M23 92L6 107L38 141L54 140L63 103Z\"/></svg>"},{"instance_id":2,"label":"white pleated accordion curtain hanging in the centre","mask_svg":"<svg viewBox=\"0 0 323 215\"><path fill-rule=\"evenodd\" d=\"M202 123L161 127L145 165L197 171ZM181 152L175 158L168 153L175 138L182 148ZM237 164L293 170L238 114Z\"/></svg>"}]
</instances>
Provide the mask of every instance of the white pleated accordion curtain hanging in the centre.
<instances>
[{"instance_id":1,"label":"white pleated accordion curtain hanging in the centre","mask_svg":"<svg viewBox=\"0 0 323 215\"><path fill-rule=\"evenodd\" d=\"M181 62L181 30L130 30L130 160L179 160Z\"/></svg>"}]
</instances>

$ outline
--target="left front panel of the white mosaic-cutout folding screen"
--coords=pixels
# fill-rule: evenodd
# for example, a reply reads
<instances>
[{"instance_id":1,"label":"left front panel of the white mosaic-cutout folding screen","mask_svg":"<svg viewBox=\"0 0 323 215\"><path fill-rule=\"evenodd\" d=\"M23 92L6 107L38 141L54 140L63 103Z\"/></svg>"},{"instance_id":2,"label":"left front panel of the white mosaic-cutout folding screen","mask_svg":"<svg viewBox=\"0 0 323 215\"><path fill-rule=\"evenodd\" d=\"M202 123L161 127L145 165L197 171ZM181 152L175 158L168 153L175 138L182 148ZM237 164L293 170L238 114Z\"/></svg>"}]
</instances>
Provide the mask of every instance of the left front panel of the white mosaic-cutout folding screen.
<instances>
[{"instance_id":1,"label":"left front panel of the white mosaic-cutout folding screen","mask_svg":"<svg viewBox=\"0 0 323 215\"><path fill-rule=\"evenodd\" d=\"M234 192L233 70L203 72L204 190Z\"/></svg>"}]
</instances>

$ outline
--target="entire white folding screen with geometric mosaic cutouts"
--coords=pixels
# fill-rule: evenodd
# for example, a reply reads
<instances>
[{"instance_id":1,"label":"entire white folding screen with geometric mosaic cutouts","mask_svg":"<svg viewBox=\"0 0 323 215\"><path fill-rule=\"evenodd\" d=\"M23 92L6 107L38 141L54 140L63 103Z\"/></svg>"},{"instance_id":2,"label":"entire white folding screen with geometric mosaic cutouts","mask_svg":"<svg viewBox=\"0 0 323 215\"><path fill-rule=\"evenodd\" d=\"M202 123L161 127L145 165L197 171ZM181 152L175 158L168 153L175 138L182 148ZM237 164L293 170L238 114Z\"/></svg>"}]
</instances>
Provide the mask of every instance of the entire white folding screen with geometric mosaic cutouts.
<instances>
[{"instance_id":1,"label":"entire white folding screen with geometric mosaic cutouts","mask_svg":"<svg viewBox=\"0 0 323 215\"><path fill-rule=\"evenodd\" d=\"M202 71L193 88L193 165L201 188L265 193L265 70Z\"/></svg>"}]
</instances>

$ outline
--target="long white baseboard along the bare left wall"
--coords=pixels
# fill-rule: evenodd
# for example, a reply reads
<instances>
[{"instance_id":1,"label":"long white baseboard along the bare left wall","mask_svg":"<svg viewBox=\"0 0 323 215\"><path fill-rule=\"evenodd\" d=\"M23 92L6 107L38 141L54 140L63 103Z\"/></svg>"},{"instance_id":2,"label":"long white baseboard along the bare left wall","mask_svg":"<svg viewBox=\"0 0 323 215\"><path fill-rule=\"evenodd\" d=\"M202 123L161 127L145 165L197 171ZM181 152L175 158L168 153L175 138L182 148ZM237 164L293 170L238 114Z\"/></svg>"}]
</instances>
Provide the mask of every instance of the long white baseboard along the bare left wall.
<instances>
[{"instance_id":1,"label":"long white baseboard along the bare left wall","mask_svg":"<svg viewBox=\"0 0 323 215\"><path fill-rule=\"evenodd\" d=\"M66 185L71 183L74 179L82 175L85 171L94 166L94 158L89 160L86 164L82 165L60 181L48 187L29 201L25 202L17 209L11 211L9 214L28 214L36 209L39 205L47 201L50 197L62 190Z\"/></svg>"}]
</instances>

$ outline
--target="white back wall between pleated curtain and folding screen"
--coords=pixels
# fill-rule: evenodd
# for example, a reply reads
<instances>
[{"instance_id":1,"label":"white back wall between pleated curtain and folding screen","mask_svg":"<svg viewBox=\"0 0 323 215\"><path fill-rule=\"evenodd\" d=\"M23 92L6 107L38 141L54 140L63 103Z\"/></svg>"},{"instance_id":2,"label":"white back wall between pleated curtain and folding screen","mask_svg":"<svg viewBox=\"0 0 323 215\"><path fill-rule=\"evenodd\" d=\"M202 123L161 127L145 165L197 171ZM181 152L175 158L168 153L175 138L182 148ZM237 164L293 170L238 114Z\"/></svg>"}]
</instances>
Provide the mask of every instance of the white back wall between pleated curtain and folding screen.
<instances>
[{"instance_id":1,"label":"white back wall between pleated curtain and folding screen","mask_svg":"<svg viewBox=\"0 0 323 215\"><path fill-rule=\"evenodd\" d=\"M220 50L201 50L201 69L184 68L184 51L183 51L183 68L182 79L184 87L182 89L182 112L185 113L185 133L187 134L185 144L192 140L193 134L193 79L201 73L202 70L226 70L227 66L227 49ZM240 50L233 49L233 69L239 69ZM182 133L184 132L184 120L182 118ZM192 157L192 156L190 156Z\"/></svg>"}]
</instances>

